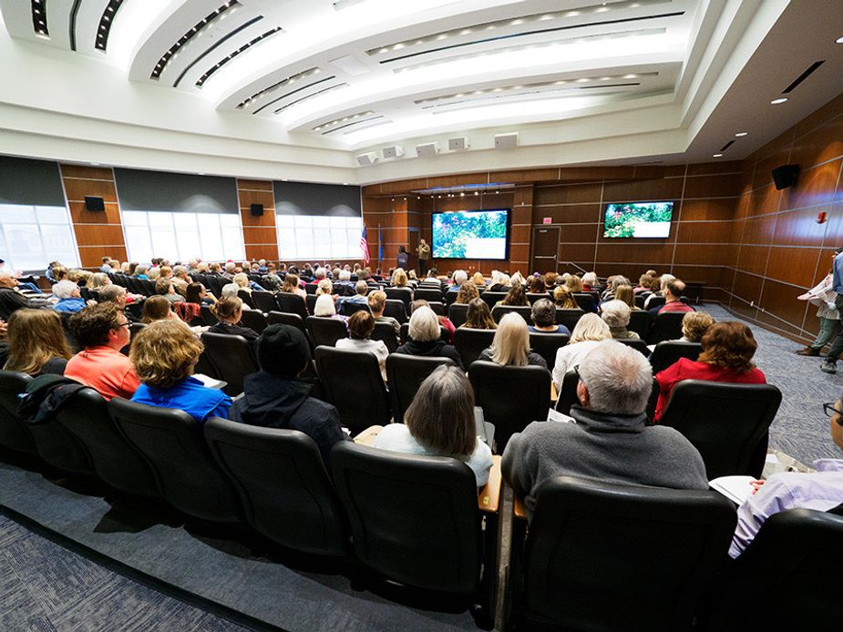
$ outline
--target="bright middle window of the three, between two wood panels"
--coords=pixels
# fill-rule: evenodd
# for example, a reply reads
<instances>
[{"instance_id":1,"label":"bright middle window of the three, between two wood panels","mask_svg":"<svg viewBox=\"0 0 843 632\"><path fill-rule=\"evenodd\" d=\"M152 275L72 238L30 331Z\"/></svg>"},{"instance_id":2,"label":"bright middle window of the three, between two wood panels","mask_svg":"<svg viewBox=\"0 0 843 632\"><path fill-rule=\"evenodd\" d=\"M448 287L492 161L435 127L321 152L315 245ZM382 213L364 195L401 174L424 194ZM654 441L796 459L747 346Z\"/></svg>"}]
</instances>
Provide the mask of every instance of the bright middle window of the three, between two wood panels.
<instances>
[{"instance_id":1,"label":"bright middle window of the three, between two wood panels","mask_svg":"<svg viewBox=\"0 0 843 632\"><path fill-rule=\"evenodd\" d=\"M125 210L123 229L129 259L153 257L171 261L244 260L240 215L233 213L167 213Z\"/></svg>"}]
</instances>

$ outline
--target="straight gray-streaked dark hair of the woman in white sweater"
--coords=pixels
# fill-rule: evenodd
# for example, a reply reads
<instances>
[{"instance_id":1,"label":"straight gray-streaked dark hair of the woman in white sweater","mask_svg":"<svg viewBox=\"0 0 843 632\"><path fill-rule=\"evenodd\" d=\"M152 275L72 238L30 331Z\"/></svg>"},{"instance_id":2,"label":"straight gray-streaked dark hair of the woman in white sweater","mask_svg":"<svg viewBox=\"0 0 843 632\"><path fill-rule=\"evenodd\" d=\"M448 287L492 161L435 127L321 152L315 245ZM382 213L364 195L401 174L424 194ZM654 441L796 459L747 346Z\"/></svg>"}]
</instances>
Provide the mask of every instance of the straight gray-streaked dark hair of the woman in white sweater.
<instances>
[{"instance_id":1,"label":"straight gray-streaked dark hair of the woman in white sweater","mask_svg":"<svg viewBox=\"0 0 843 632\"><path fill-rule=\"evenodd\" d=\"M404 420L418 443L440 454L472 454L477 446L474 392L456 366L440 366L430 373Z\"/></svg>"}]
</instances>

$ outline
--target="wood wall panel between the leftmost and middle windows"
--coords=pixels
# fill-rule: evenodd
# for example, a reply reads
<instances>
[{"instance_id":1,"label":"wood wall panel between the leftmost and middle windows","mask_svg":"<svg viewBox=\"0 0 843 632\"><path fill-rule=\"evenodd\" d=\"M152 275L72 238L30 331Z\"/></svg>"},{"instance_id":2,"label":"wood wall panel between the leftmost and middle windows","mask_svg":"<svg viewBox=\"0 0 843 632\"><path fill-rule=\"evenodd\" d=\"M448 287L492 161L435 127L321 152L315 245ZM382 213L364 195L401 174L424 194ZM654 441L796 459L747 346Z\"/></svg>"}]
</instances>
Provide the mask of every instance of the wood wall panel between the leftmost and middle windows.
<instances>
[{"instance_id":1,"label":"wood wall panel between the leftmost and middle windows","mask_svg":"<svg viewBox=\"0 0 843 632\"><path fill-rule=\"evenodd\" d=\"M59 168L82 267L98 268L106 256L127 260L114 171L81 165L59 165ZM102 198L105 212L85 209L87 195Z\"/></svg>"}]
</instances>

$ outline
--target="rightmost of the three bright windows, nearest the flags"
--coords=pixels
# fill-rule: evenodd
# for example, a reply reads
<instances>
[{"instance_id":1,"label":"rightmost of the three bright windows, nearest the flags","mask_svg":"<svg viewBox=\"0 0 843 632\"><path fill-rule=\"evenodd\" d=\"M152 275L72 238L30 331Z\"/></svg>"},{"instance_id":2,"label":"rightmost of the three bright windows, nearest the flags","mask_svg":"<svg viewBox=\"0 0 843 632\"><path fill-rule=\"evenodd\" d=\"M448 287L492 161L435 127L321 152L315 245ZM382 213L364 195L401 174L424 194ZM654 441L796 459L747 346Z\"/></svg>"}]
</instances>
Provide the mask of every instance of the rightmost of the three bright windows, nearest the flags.
<instances>
[{"instance_id":1,"label":"rightmost of the three bright windows, nearest the flags","mask_svg":"<svg viewBox=\"0 0 843 632\"><path fill-rule=\"evenodd\" d=\"M362 259L363 219L327 215L276 215L281 260Z\"/></svg>"}]
</instances>

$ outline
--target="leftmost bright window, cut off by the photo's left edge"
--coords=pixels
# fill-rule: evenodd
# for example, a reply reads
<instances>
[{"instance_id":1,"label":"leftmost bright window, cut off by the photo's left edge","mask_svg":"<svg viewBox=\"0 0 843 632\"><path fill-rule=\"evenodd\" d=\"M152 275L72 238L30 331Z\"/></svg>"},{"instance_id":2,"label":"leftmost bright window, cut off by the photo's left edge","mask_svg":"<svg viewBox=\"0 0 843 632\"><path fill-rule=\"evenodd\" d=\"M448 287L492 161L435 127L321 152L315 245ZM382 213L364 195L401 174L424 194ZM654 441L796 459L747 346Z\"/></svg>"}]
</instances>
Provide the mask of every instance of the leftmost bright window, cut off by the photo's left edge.
<instances>
[{"instance_id":1,"label":"leftmost bright window, cut off by the photo's left edge","mask_svg":"<svg viewBox=\"0 0 843 632\"><path fill-rule=\"evenodd\" d=\"M0 240L11 270L44 270L50 261L79 267L66 207L0 204Z\"/></svg>"}]
</instances>

